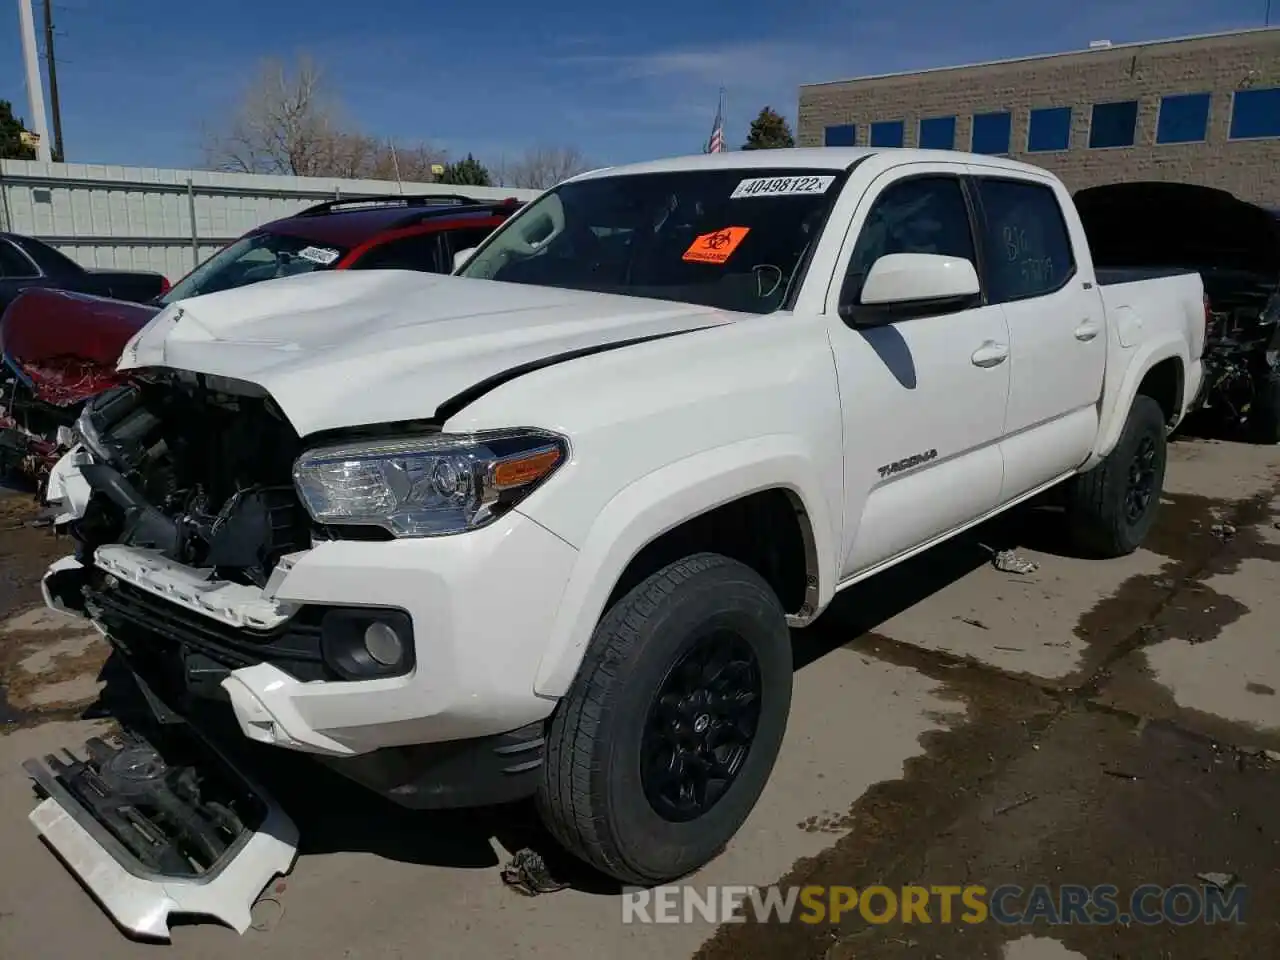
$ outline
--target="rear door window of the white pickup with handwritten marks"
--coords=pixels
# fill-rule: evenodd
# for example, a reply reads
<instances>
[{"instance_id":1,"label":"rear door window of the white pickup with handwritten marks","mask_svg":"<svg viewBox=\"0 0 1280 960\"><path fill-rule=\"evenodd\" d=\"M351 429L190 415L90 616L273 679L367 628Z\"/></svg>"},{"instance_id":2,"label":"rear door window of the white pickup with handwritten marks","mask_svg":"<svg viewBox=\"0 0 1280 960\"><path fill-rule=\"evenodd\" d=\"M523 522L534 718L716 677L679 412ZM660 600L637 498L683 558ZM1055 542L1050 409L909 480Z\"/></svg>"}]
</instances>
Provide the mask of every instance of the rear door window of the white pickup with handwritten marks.
<instances>
[{"instance_id":1,"label":"rear door window of the white pickup with handwritten marks","mask_svg":"<svg viewBox=\"0 0 1280 960\"><path fill-rule=\"evenodd\" d=\"M1075 274L1075 257L1053 191L1025 180L980 179L978 196L989 302L1061 289Z\"/></svg>"}]
</instances>

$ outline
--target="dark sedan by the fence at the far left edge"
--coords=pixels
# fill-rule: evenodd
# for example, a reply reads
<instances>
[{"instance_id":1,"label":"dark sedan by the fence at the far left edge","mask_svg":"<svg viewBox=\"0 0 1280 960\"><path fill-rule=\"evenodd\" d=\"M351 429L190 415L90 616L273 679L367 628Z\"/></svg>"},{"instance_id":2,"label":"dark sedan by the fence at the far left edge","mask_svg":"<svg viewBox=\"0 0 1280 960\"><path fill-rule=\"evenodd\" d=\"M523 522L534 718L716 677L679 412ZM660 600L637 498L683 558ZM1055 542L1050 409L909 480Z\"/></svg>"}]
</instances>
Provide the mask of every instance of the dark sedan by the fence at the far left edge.
<instances>
[{"instance_id":1,"label":"dark sedan by the fence at the far left edge","mask_svg":"<svg viewBox=\"0 0 1280 960\"><path fill-rule=\"evenodd\" d=\"M23 291L37 288L142 302L168 292L169 280L147 270L88 270L47 243L0 233L0 311Z\"/></svg>"}]
</instances>

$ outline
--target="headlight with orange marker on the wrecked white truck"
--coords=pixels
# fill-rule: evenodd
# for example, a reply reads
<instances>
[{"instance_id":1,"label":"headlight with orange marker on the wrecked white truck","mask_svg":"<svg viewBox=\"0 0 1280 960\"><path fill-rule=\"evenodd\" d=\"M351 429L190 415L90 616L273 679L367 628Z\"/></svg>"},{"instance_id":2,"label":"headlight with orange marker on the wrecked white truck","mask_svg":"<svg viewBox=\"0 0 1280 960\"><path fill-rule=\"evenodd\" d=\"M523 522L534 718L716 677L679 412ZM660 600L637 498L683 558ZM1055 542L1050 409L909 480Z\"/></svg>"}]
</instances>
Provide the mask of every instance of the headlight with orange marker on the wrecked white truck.
<instances>
[{"instance_id":1,"label":"headlight with orange marker on the wrecked white truck","mask_svg":"<svg viewBox=\"0 0 1280 960\"><path fill-rule=\"evenodd\" d=\"M567 458L538 430L403 436L307 451L293 484L319 524L440 536L492 522Z\"/></svg>"}]
</instances>

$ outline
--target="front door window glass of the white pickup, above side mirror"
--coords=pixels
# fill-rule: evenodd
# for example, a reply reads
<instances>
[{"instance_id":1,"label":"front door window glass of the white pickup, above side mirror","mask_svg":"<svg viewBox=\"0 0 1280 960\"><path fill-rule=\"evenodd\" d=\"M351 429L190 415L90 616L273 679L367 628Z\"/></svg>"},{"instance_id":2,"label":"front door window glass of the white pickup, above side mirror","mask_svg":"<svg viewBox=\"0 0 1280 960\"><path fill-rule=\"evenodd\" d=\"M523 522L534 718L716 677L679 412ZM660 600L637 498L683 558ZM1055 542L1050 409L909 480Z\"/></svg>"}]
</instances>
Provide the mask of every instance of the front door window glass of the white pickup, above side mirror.
<instances>
[{"instance_id":1,"label":"front door window glass of the white pickup, above side mirror","mask_svg":"<svg viewBox=\"0 0 1280 960\"><path fill-rule=\"evenodd\" d=\"M941 253L974 261L969 207L960 180L915 177L887 187L858 234L845 296L856 302L872 265L890 253Z\"/></svg>"}]
</instances>

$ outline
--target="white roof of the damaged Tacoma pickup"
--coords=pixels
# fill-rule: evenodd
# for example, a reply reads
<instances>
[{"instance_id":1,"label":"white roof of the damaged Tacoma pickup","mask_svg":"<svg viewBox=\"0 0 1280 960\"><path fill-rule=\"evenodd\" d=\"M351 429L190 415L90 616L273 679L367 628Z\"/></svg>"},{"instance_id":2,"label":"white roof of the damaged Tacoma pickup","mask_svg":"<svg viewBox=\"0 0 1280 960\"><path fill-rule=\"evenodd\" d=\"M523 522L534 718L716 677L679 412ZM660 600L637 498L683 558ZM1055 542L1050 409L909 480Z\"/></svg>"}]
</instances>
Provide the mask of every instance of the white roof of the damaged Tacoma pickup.
<instances>
[{"instance_id":1,"label":"white roof of the damaged Tacoma pickup","mask_svg":"<svg viewBox=\"0 0 1280 960\"><path fill-rule=\"evenodd\" d=\"M689 156L646 160L621 166L604 166L575 177L576 180L596 177L625 177L644 173L676 173L680 170L847 170L869 156L892 154L900 163L928 160L966 163L1016 173L1046 175L1047 170L1018 160L987 154L964 154L956 150L916 150L913 147L786 147L781 150L733 150L724 154L691 154Z\"/></svg>"}]
</instances>

